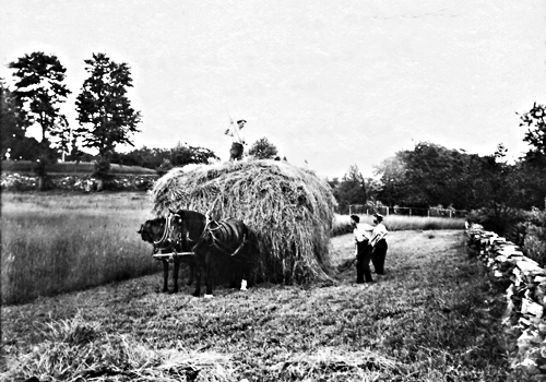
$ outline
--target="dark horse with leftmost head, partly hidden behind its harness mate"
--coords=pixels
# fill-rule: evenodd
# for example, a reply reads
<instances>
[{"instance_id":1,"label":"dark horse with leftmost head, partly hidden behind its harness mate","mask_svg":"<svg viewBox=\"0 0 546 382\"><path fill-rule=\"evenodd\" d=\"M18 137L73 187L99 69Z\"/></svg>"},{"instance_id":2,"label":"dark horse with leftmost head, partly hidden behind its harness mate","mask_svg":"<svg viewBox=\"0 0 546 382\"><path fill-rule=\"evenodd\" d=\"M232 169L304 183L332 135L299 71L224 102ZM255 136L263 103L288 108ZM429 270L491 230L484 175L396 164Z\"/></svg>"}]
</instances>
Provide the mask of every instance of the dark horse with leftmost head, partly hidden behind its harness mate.
<instances>
[{"instance_id":1,"label":"dark horse with leftmost head, partly hidden behind its harness mate","mask_svg":"<svg viewBox=\"0 0 546 382\"><path fill-rule=\"evenodd\" d=\"M191 220L193 213L191 211L187 211L188 218ZM146 220L138 234L141 235L142 240L147 241L154 246L153 253L183 253L190 252L191 247L194 241L198 240L202 230L187 232L183 237L181 235L177 235L173 229L173 219L175 215L169 214L168 217L157 217L155 219ZM204 228L204 225L203 225ZM197 228L199 229L199 228ZM193 239L193 242L192 242ZM168 291L168 260L162 259L163 261L163 291ZM191 285L193 283L193 275L195 268L195 261L193 255L174 255L174 270L173 270L173 278L175 282L174 293L178 291L178 272L180 268L180 262L187 263L190 267L190 278L187 285Z\"/></svg>"}]
</instances>

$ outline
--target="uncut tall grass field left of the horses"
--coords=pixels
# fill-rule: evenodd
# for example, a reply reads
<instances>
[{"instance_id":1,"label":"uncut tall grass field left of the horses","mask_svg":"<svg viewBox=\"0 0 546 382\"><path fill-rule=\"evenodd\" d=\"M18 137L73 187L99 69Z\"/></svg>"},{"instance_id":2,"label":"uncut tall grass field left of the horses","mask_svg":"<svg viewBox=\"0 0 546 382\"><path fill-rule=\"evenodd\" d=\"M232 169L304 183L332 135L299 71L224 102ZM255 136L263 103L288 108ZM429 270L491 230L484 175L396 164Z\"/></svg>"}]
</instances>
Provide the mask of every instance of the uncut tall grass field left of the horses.
<instances>
[{"instance_id":1,"label":"uncut tall grass field left of the horses","mask_svg":"<svg viewBox=\"0 0 546 382\"><path fill-rule=\"evenodd\" d=\"M150 211L145 193L3 193L2 303L156 271L136 234Z\"/></svg>"}]
</instances>

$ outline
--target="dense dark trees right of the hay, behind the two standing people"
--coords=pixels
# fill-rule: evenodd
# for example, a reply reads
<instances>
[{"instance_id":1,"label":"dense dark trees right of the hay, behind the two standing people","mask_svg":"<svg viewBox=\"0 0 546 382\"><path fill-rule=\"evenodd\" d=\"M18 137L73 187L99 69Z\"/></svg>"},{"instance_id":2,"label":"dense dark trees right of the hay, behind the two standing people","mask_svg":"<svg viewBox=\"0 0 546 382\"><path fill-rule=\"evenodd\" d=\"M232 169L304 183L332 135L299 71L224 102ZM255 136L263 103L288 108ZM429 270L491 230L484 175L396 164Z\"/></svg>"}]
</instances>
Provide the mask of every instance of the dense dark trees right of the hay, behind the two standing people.
<instances>
[{"instance_id":1,"label":"dense dark trees right of the hay, behind the two standing people","mask_svg":"<svg viewBox=\"0 0 546 382\"><path fill-rule=\"evenodd\" d=\"M546 107L536 103L520 115L530 148L514 163L507 160L502 144L494 154L479 156L419 142L377 165L375 178L365 179L353 165L341 180L329 181L339 211L347 213L349 204L479 211L478 219L502 232L518 218L518 211L545 207L545 116Z\"/></svg>"}]
</instances>

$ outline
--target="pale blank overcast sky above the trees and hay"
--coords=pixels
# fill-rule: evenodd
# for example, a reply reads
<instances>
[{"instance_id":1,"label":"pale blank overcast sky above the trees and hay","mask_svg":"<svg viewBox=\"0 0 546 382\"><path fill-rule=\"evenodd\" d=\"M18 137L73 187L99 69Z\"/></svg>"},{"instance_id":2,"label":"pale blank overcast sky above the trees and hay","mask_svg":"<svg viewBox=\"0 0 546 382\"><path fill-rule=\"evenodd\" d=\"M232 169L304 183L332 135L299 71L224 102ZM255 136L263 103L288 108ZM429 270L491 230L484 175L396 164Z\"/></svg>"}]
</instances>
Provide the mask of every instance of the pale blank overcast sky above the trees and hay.
<instances>
[{"instance_id":1,"label":"pale blank overcast sky above the trees and hay","mask_svg":"<svg viewBox=\"0 0 546 382\"><path fill-rule=\"evenodd\" d=\"M33 51L56 55L74 99L84 60L132 71L136 147L178 141L223 160L229 117L250 144L342 177L422 141L526 152L515 112L546 103L546 2L2 0L0 77ZM247 150L249 146L247 146ZM127 151L127 150L126 150Z\"/></svg>"}]
</instances>

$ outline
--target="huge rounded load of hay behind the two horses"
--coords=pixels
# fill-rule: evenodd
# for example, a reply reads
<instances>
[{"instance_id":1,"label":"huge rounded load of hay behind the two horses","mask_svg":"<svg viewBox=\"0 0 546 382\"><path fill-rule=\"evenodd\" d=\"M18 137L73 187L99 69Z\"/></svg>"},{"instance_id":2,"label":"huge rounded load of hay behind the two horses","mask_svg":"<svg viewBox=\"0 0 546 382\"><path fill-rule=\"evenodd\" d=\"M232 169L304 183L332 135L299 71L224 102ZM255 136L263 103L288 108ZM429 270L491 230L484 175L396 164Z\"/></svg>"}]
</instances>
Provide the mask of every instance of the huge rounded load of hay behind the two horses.
<instances>
[{"instance_id":1,"label":"huge rounded load of hay behind the two horses","mask_svg":"<svg viewBox=\"0 0 546 382\"><path fill-rule=\"evenodd\" d=\"M168 208L191 210L245 222L258 252L258 280L330 280L335 200L312 171L270 159L175 168L151 195L158 216Z\"/></svg>"}]
</instances>

